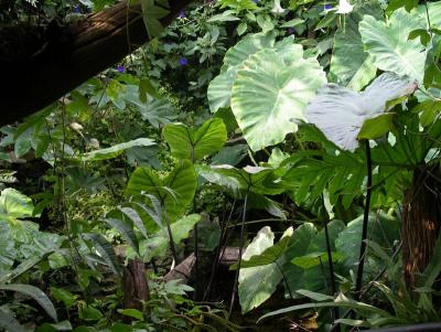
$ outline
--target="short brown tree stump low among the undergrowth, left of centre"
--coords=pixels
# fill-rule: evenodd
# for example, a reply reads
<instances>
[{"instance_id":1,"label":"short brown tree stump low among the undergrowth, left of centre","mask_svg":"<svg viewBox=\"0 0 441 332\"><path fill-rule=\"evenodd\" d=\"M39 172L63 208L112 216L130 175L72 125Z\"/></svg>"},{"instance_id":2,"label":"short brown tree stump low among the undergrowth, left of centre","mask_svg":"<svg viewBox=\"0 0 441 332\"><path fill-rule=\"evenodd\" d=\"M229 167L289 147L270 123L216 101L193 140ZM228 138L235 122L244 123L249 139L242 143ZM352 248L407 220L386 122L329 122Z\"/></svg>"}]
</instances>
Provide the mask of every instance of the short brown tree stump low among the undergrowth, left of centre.
<instances>
[{"instance_id":1,"label":"short brown tree stump low among the undergrowth, left of centre","mask_svg":"<svg viewBox=\"0 0 441 332\"><path fill-rule=\"evenodd\" d=\"M150 300L146 266L139 259L130 259L123 270L123 308L143 311L142 301Z\"/></svg>"}]
</instances>

